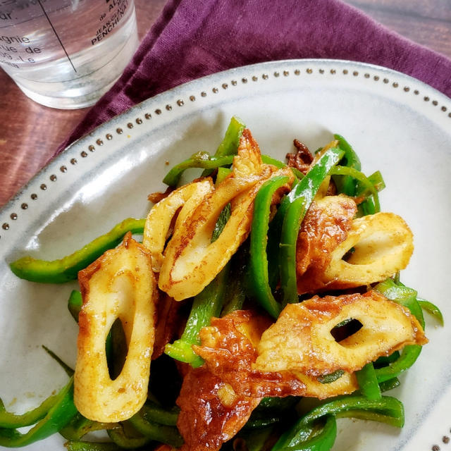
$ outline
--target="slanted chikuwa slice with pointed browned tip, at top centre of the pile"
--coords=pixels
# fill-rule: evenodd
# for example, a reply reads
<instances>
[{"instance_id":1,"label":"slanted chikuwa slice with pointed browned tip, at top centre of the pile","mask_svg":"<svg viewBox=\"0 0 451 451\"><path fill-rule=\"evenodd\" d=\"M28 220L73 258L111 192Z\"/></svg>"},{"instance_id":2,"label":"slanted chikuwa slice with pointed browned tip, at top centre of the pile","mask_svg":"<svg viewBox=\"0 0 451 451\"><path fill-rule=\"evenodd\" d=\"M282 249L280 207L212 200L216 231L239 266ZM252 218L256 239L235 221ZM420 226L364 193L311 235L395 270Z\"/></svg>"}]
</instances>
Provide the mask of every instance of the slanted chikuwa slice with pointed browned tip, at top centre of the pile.
<instances>
[{"instance_id":1,"label":"slanted chikuwa slice with pointed browned tip, at top centre of the pile","mask_svg":"<svg viewBox=\"0 0 451 451\"><path fill-rule=\"evenodd\" d=\"M292 183L290 168L262 163L257 142L244 130L232 173L175 227L161 265L159 288L179 301L201 292L249 235L254 198L261 185L278 174L287 175ZM218 216L229 203L230 218L211 242Z\"/></svg>"}]
</instances>

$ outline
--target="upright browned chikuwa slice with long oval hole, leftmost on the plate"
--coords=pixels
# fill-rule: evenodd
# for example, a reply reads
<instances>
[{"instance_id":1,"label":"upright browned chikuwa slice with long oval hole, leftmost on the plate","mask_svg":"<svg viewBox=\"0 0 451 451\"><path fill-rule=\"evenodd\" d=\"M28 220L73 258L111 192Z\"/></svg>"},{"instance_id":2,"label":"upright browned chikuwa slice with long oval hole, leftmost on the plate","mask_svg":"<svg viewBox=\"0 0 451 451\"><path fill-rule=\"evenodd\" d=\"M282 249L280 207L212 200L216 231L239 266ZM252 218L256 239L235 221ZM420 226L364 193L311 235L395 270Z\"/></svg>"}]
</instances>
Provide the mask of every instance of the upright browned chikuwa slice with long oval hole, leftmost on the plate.
<instances>
[{"instance_id":1,"label":"upright browned chikuwa slice with long oval hole, leftmost on the plate","mask_svg":"<svg viewBox=\"0 0 451 451\"><path fill-rule=\"evenodd\" d=\"M156 281L150 254L125 236L79 273L83 305L79 315L74 401L88 419L123 421L144 404L154 346ZM111 380L106 336L120 319L128 345L122 371Z\"/></svg>"}]
</instances>

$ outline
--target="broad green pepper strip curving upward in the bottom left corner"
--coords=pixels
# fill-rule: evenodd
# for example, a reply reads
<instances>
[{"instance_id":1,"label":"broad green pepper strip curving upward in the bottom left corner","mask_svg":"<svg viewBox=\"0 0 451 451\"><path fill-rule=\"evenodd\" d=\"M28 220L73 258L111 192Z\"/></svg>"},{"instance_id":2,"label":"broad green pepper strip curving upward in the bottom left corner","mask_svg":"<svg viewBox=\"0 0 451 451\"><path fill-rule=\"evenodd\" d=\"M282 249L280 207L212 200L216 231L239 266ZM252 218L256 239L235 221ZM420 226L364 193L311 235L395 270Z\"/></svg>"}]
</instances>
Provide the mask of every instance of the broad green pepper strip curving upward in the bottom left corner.
<instances>
[{"instance_id":1,"label":"broad green pepper strip curving upward in the bottom left corner","mask_svg":"<svg viewBox=\"0 0 451 451\"><path fill-rule=\"evenodd\" d=\"M27 433L15 428L0 428L0 446L22 447L58 432L77 414L73 403L73 378L54 396L54 404Z\"/></svg>"}]
</instances>

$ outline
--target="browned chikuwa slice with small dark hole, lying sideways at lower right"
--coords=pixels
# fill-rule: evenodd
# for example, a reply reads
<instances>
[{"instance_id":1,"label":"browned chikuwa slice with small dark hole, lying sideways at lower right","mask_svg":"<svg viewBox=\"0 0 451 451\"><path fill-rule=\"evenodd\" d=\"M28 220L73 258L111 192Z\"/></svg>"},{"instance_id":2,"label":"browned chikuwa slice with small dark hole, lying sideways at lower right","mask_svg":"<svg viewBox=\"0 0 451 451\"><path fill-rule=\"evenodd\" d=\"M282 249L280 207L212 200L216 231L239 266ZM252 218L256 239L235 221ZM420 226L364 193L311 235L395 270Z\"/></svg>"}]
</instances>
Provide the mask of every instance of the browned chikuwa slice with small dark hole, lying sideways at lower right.
<instances>
[{"instance_id":1,"label":"browned chikuwa slice with small dark hole, lying sideways at lower right","mask_svg":"<svg viewBox=\"0 0 451 451\"><path fill-rule=\"evenodd\" d=\"M337 342L331 330L354 319L362 327ZM314 296L288 304L261 336L255 369L322 376L353 373L406 345L424 345L424 331L408 309L376 291L364 295Z\"/></svg>"}]
</instances>

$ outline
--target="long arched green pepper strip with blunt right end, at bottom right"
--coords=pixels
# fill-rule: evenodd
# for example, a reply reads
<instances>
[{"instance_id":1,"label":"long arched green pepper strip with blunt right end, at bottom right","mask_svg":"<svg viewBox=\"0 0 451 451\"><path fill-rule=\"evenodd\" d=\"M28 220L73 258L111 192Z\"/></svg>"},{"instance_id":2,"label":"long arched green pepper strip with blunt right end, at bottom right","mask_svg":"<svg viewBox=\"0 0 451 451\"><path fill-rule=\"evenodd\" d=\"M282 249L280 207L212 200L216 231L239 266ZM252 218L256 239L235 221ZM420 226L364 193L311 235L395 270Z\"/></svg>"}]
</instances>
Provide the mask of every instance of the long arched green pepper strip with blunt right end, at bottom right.
<instances>
[{"instance_id":1,"label":"long arched green pepper strip with blunt right end, at bottom right","mask_svg":"<svg viewBox=\"0 0 451 451\"><path fill-rule=\"evenodd\" d=\"M280 450L309 450L302 445L311 438L316 422L325 417L333 418L354 417L381 421L391 426L404 425L404 408L402 403L394 397L383 396L380 400L369 400L360 395L347 395L335 398L333 401L321 404L302 416L294 426L283 433L271 451ZM333 443L332 443L333 444ZM332 446L330 444L330 447ZM321 443L319 443L319 446ZM330 447L317 447L316 450L328 450Z\"/></svg>"}]
</instances>

